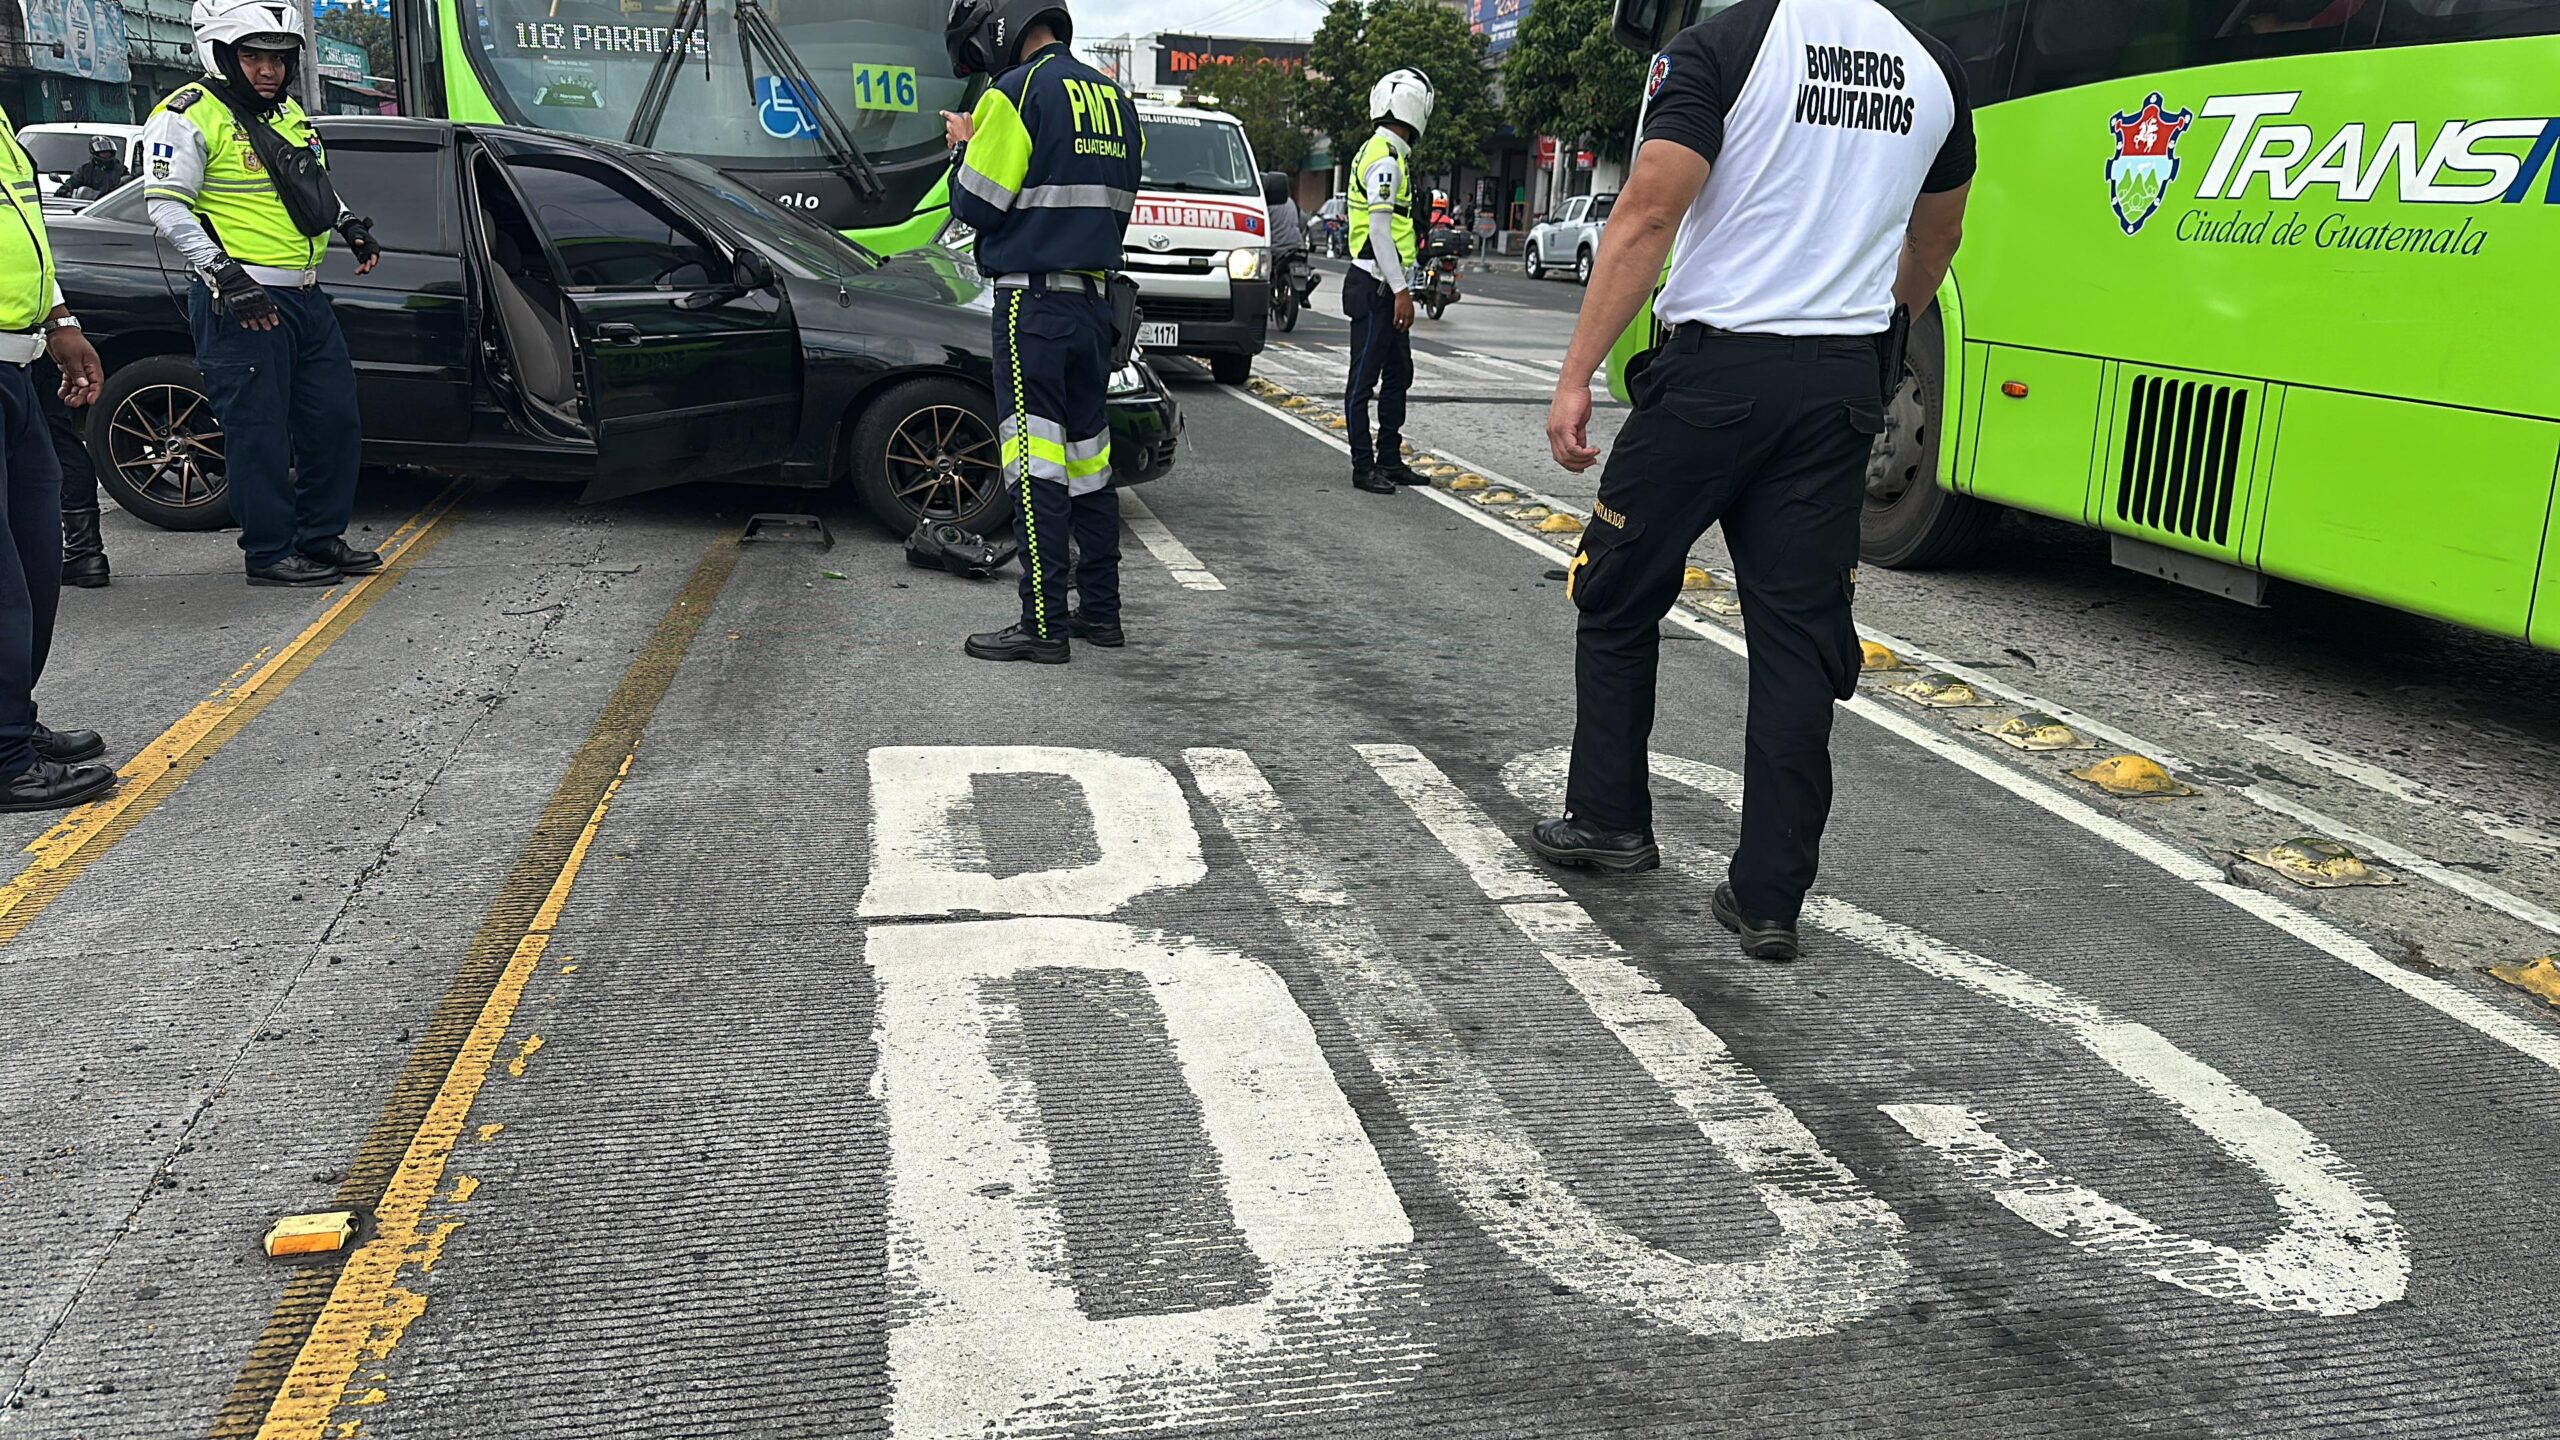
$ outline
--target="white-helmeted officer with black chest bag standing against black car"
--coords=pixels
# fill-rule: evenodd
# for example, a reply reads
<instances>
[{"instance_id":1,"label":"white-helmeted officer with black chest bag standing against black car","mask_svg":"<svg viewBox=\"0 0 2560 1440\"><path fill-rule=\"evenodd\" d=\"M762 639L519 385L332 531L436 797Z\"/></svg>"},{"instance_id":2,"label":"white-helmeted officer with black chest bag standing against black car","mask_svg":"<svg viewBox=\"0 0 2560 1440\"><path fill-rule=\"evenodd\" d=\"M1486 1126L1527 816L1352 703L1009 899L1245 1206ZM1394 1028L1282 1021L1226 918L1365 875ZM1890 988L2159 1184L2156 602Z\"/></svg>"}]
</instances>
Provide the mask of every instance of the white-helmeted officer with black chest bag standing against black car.
<instances>
[{"instance_id":1,"label":"white-helmeted officer with black chest bag standing against black car","mask_svg":"<svg viewBox=\"0 0 2560 1440\"><path fill-rule=\"evenodd\" d=\"M356 366L320 290L330 231L374 269L371 220L338 202L320 136L287 92L310 44L302 0L195 0L205 77L143 126L151 223L187 264L195 364L223 420L248 584L381 569L346 543L364 430Z\"/></svg>"}]
</instances>

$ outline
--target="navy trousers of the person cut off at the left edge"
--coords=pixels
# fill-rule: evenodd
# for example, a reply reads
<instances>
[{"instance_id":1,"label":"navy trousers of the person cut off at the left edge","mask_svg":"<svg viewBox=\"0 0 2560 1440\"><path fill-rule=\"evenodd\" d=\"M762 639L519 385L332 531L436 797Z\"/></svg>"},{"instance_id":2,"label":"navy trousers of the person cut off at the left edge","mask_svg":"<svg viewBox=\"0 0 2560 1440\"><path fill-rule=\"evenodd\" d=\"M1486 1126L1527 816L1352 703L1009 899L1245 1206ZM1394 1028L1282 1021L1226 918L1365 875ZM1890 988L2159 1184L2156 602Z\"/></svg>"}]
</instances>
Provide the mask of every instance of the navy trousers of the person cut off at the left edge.
<instances>
[{"instance_id":1,"label":"navy trousers of the person cut off at the left edge","mask_svg":"<svg viewBox=\"0 0 2560 1440\"><path fill-rule=\"evenodd\" d=\"M36 764L36 682L61 605L61 461L23 364L0 364L0 779Z\"/></svg>"}]
</instances>

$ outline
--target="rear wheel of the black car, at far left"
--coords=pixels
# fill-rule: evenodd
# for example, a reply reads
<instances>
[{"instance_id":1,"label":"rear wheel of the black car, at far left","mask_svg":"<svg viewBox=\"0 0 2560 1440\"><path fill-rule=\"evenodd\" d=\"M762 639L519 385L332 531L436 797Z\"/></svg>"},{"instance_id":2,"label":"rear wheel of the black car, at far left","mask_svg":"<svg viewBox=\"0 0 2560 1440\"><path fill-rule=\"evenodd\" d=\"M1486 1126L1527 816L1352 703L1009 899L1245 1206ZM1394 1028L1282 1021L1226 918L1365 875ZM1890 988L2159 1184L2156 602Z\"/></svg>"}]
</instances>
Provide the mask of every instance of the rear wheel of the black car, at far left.
<instances>
[{"instance_id":1,"label":"rear wheel of the black car, at far left","mask_svg":"<svg viewBox=\"0 0 2560 1440\"><path fill-rule=\"evenodd\" d=\"M97 482L128 515L161 530L230 525L223 425L192 359L148 356L110 374L84 438Z\"/></svg>"}]
</instances>

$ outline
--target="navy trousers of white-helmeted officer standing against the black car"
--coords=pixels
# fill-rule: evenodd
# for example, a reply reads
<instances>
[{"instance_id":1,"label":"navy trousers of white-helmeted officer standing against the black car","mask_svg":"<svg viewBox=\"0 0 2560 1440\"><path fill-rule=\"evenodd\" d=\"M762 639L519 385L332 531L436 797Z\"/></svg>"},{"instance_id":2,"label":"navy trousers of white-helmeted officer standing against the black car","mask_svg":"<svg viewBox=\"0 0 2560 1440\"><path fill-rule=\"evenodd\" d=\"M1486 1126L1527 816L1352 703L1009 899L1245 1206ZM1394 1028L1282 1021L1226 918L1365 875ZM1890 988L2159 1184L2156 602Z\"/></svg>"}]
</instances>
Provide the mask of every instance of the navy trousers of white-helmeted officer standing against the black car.
<instances>
[{"instance_id":1,"label":"navy trousers of white-helmeted officer standing against the black car","mask_svg":"<svg viewBox=\"0 0 2560 1440\"><path fill-rule=\"evenodd\" d=\"M364 464L356 361L328 295L317 287L266 292L284 315L274 331L243 331L215 310L202 282L187 292L195 366L223 423L230 515L253 566L343 536Z\"/></svg>"}]
</instances>

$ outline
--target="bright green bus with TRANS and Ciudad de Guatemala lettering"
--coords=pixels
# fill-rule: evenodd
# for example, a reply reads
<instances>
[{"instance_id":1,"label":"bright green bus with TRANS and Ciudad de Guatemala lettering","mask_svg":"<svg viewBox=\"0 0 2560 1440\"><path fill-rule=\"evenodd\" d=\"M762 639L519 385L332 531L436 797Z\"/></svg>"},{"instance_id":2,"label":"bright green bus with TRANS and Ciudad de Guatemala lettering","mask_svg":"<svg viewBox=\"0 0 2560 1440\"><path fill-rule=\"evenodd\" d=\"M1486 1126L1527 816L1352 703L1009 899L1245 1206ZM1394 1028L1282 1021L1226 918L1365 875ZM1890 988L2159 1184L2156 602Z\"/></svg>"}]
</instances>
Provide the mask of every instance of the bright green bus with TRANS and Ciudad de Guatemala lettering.
<instances>
[{"instance_id":1,"label":"bright green bus with TRANS and Ciudad de Guatemala lettering","mask_svg":"<svg viewBox=\"0 0 2560 1440\"><path fill-rule=\"evenodd\" d=\"M1956 564L2015 507L2235 600L2560 648L2560 0L1884 3L1964 59L1981 172L1869 564Z\"/></svg>"}]
</instances>

